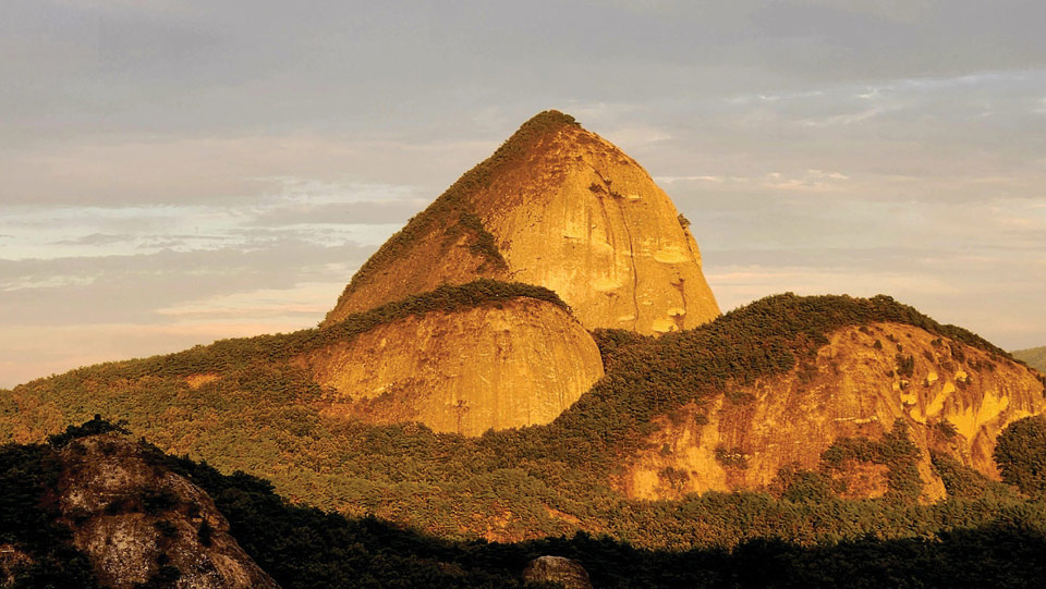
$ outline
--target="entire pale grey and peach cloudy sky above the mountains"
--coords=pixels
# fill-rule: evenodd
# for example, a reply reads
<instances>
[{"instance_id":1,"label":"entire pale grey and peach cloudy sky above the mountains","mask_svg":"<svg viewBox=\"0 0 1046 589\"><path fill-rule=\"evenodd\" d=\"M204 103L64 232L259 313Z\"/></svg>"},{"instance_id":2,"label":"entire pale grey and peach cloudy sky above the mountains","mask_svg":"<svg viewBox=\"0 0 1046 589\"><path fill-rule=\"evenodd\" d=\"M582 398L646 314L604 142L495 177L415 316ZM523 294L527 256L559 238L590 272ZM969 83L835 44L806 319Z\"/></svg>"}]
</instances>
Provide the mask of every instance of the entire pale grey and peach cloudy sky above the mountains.
<instances>
[{"instance_id":1,"label":"entire pale grey and peach cloudy sky above the mountains","mask_svg":"<svg viewBox=\"0 0 1046 589\"><path fill-rule=\"evenodd\" d=\"M549 108L668 192L723 310L1046 345L1039 0L0 5L0 386L314 327Z\"/></svg>"}]
</instances>

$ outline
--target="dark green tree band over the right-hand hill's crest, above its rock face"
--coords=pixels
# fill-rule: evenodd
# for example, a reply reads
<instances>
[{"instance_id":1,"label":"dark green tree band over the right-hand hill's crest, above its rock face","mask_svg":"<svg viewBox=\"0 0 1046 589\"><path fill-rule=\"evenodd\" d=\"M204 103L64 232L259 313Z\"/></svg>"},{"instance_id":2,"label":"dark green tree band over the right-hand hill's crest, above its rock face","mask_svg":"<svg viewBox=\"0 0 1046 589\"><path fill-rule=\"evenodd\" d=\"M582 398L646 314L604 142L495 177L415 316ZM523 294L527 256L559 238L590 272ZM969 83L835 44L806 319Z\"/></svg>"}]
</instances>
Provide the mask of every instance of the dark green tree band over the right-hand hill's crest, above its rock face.
<instances>
[{"instance_id":1,"label":"dark green tree band over the right-hand hill's crest, above its rock face","mask_svg":"<svg viewBox=\"0 0 1046 589\"><path fill-rule=\"evenodd\" d=\"M691 402L701 405L730 384L751 384L790 370L798 361L816 355L832 331L872 322L915 326L1008 357L982 338L942 326L888 296L777 295L695 330L619 345L608 363L606 378L556 421L544 428L488 435L516 438L499 445L527 449L526 455L502 453L507 462L533 459L537 446L547 453L545 457L562 456L574 466L598 466L609 473L615 456L636 447L656 428L656 415ZM542 443L528 438L540 438Z\"/></svg>"}]
</instances>

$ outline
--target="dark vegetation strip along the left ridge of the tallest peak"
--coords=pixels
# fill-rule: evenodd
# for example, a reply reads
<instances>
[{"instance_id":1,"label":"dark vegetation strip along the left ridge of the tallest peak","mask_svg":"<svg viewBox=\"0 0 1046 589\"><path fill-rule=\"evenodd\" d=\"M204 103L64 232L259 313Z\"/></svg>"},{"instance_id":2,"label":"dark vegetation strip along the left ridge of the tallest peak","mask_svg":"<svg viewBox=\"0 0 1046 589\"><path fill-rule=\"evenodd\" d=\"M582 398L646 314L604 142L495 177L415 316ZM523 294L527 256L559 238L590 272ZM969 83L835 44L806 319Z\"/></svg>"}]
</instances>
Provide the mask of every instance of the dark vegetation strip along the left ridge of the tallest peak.
<instances>
[{"instance_id":1,"label":"dark vegetation strip along the left ridge of the tallest peak","mask_svg":"<svg viewBox=\"0 0 1046 589\"><path fill-rule=\"evenodd\" d=\"M337 310L356 289L373 280L381 268L394 262L418 240L438 229L445 230L448 236L460 235L463 231L472 232L474 237L470 249L473 254L486 259L495 269L503 269L506 267L504 258L501 257L501 251L494 241L494 235L483 226L483 221L472 210L470 197L476 191L487 187L501 170L518 164L521 158L526 156L532 147L543 138L564 126L579 125L573 116L555 110L540 112L523 123L519 131L509 137L494 155L462 174L431 205L414 216L403 229L385 242L352 277L349 285L345 286L344 292L338 298L335 309ZM331 311L331 314L333 312ZM331 315L328 314L328 319L330 317Z\"/></svg>"}]
</instances>

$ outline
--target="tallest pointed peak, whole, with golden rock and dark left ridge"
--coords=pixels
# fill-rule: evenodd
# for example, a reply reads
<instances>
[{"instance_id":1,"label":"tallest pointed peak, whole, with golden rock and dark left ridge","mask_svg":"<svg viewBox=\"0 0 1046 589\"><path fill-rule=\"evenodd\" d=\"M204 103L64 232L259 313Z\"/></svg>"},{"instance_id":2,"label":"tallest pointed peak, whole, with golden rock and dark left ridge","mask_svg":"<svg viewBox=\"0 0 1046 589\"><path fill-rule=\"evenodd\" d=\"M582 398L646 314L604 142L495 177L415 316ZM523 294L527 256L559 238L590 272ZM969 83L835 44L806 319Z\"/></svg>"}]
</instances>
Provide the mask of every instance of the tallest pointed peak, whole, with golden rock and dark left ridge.
<instances>
[{"instance_id":1,"label":"tallest pointed peak, whole, with golden rock and dark left ridge","mask_svg":"<svg viewBox=\"0 0 1046 589\"><path fill-rule=\"evenodd\" d=\"M390 238L326 324L485 277L555 291L587 329L690 329L719 308L688 224L633 159L544 112Z\"/></svg>"}]
</instances>

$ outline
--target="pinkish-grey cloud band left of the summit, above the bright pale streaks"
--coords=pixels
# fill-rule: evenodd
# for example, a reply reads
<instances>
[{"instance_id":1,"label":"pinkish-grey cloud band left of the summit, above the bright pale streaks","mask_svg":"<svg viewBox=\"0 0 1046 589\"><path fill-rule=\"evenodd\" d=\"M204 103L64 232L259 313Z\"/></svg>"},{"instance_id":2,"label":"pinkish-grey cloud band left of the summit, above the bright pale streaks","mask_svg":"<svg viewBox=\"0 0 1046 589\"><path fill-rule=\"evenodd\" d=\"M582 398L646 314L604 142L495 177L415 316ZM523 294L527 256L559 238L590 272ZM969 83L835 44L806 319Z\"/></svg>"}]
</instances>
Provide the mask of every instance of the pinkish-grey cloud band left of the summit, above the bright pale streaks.
<instances>
[{"instance_id":1,"label":"pinkish-grey cloud band left of the summit, above the bright pale streaks","mask_svg":"<svg viewBox=\"0 0 1046 589\"><path fill-rule=\"evenodd\" d=\"M0 203L183 207L308 194L348 201L361 199L361 192L373 195L376 188L396 196L416 195L423 188L435 195L454 180L446 175L448 164L467 169L496 147L492 140L411 143L294 135L68 143L7 152L0 148L4 179ZM390 176L402 182L385 182Z\"/></svg>"}]
</instances>

